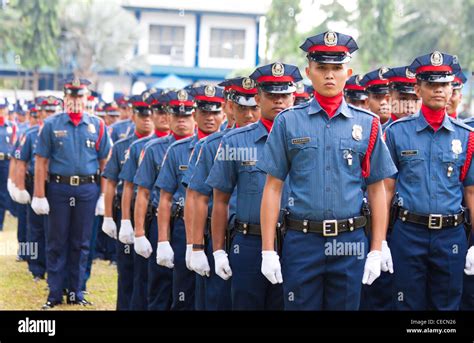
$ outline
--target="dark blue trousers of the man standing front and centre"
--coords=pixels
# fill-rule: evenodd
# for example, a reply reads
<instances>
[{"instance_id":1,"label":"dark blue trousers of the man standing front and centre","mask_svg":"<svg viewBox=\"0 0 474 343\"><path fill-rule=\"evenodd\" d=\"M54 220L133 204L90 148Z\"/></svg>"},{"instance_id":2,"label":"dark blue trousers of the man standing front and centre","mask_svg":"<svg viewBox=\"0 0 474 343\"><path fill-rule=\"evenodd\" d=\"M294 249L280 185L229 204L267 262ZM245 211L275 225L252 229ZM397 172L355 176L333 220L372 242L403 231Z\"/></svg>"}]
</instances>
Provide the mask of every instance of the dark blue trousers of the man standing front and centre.
<instances>
[{"instance_id":1,"label":"dark blue trousers of the man standing front and centre","mask_svg":"<svg viewBox=\"0 0 474 343\"><path fill-rule=\"evenodd\" d=\"M285 310L358 310L367 249L363 229L337 237L288 230L281 256Z\"/></svg>"}]
</instances>

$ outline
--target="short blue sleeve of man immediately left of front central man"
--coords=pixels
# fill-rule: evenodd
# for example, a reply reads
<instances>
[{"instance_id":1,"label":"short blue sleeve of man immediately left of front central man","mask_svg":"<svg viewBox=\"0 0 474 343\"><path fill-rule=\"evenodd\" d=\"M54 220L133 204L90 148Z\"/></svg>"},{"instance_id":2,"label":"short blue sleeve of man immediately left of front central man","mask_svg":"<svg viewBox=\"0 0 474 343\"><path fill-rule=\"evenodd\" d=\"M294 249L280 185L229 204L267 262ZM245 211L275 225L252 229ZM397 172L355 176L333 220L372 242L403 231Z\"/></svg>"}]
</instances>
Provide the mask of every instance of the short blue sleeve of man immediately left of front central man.
<instances>
[{"instance_id":1,"label":"short blue sleeve of man immediately left of front central man","mask_svg":"<svg viewBox=\"0 0 474 343\"><path fill-rule=\"evenodd\" d=\"M222 139L206 183L221 192L231 194L237 184L238 170L236 161L226 158L223 153L227 147L234 147L231 137Z\"/></svg>"}]
</instances>

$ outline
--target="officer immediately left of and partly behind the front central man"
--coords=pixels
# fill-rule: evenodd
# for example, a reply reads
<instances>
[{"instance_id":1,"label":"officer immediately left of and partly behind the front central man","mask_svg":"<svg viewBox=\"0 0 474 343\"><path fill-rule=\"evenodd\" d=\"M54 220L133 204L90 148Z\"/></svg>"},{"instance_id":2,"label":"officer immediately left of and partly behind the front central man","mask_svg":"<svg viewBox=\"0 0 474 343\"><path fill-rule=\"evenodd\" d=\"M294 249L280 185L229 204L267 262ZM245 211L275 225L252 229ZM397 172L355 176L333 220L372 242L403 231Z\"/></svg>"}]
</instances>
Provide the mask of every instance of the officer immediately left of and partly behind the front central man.
<instances>
[{"instance_id":1,"label":"officer immediately left of and partly behind the front central man","mask_svg":"<svg viewBox=\"0 0 474 343\"><path fill-rule=\"evenodd\" d=\"M301 81L296 66L279 62L257 68L250 78L257 84L255 101L261 119L236 129L222 139L207 183L214 188L212 237L215 270L231 279L232 308L236 310L280 310L283 308L281 285L272 285L260 273L261 230L259 206L265 173L256 168L263 158L263 146L279 112L293 106L295 83ZM226 151L246 152L243 156L226 156ZM224 250L227 229L227 206L237 188L235 236L230 242L230 257ZM282 203L286 207L287 197ZM232 269L231 269L232 267Z\"/></svg>"}]
</instances>

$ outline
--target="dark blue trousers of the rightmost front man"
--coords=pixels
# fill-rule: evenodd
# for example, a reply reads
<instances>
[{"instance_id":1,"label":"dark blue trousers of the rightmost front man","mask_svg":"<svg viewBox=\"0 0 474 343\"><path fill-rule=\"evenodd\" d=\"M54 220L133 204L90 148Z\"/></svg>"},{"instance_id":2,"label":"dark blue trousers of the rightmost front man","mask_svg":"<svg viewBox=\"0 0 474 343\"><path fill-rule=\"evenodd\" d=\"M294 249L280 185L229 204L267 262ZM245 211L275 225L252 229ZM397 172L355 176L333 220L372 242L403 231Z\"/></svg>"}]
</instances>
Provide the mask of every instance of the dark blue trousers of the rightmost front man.
<instances>
[{"instance_id":1,"label":"dark blue trousers of the rightmost front man","mask_svg":"<svg viewBox=\"0 0 474 343\"><path fill-rule=\"evenodd\" d=\"M397 220L390 250L396 310L459 309L467 251L463 224L430 230Z\"/></svg>"}]
</instances>

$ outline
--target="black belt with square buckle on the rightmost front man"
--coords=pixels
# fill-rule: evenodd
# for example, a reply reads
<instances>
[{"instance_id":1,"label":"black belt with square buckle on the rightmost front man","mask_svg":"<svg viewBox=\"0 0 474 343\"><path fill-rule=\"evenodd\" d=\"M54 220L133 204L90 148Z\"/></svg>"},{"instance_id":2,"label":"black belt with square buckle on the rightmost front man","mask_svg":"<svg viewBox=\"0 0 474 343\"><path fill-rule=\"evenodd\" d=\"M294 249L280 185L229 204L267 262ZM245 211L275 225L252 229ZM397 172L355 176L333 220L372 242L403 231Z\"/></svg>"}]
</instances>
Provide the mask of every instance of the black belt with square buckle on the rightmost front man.
<instances>
[{"instance_id":1,"label":"black belt with square buckle on the rightmost front man","mask_svg":"<svg viewBox=\"0 0 474 343\"><path fill-rule=\"evenodd\" d=\"M399 208L398 218L403 222L427 226L431 230L456 227L464 223L466 216L464 212L443 216L442 214L418 214Z\"/></svg>"}]
</instances>

